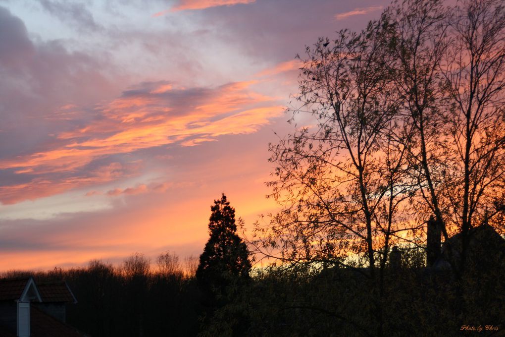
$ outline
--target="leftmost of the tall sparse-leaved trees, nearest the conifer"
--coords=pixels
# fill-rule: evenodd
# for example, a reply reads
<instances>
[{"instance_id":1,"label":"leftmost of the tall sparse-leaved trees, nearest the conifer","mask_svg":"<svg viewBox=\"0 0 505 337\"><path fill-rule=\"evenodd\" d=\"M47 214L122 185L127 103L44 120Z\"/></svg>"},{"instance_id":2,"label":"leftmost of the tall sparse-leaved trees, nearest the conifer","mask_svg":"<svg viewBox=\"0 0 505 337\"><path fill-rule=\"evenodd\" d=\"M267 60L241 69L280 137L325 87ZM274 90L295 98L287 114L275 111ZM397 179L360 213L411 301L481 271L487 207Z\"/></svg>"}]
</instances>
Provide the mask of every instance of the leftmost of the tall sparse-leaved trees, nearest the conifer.
<instances>
[{"instance_id":1,"label":"leftmost of the tall sparse-leaved trees, nearest the conifer","mask_svg":"<svg viewBox=\"0 0 505 337\"><path fill-rule=\"evenodd\" d=\"M307 47L291 121L309 114L317 126L271 145L277 167L268 184L283 209L256 228L261 249L278 251L284 262L358 267L376 293L377 335L389 247L411 230L408 141L400 137L413 128L398 114L392 85L394 59L386 46L393 28L371 22L360 34L344 30Z\"/></svg>"}]
</instances>

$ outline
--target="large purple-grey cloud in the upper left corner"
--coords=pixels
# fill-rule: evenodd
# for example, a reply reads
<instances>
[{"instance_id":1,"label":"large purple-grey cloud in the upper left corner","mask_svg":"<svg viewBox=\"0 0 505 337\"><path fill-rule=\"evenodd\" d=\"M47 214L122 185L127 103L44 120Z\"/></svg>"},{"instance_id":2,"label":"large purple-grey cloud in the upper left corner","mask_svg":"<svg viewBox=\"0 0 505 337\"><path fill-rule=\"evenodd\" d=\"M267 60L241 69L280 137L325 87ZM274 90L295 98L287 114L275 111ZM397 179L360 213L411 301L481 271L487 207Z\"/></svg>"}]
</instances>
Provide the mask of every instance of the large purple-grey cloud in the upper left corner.
<instances>
[{"instance_id":1,"label":"large purple-grey cloud in the upper left corner","mask_svg":"<svg viewBox=\"0 0 505 337\"><path fill-rule=\"evenodd\" d=\"M0 159L33 151L88 118L85 111L52 117L69 103L108 97L114 85L107 74L103 63L60 41L32 42L24 23L0 7Z\"/></svg>"}]
</instances>

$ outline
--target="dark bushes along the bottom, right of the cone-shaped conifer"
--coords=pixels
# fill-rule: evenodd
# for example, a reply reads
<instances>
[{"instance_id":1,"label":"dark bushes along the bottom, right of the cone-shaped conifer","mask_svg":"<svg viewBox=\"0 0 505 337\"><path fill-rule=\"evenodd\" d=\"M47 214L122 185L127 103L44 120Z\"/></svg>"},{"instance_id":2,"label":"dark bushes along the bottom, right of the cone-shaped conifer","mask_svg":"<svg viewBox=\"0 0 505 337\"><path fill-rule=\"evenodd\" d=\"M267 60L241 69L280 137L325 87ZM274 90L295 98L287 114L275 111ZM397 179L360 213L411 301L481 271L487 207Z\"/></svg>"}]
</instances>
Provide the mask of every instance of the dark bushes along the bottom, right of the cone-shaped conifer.
<instances>
[{"instance_id":1,"label":"dark bushes along the bottom, right of the cone-shaped conifer","mask_svg":"<svg viewBox=\"0 0 505 337\"><path fill-rule=\"evenodd\" d=\"M226 305L202 327L206 336L376 336L378 315L387 336L503 335L503 250L469 266L464 278L425 267L423 250L404 251L400 267L386 265L382 311L370 268L270 267L246 286L230 287ZM481 263L489 260L489 263ZM466 307L459 306L465 288ZM237 319L246 321L246 329ZM244 319L245 318L245 319ZM487 329L486 329L487 325Z\"/></svg>"}]
</instances>

